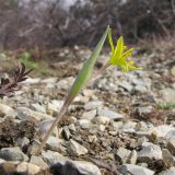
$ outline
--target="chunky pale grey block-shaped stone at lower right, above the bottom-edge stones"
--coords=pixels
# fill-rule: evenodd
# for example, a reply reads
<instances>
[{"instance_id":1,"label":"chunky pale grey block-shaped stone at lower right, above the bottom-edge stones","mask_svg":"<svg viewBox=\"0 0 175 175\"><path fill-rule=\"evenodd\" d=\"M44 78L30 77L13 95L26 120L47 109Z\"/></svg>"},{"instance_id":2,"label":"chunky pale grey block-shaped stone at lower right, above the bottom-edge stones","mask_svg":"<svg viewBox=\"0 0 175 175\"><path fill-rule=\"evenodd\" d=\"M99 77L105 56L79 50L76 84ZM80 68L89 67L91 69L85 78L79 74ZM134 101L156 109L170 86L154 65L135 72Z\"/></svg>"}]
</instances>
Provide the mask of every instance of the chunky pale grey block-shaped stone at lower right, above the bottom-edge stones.
<instances>
[{"instance_id":1,"label":"chunky pale grey block-shaped stone at lower right, above the bottom-edge stones","mask_svg":"<svg viewBox=\"0 0 175 175\"><path fill-rule=\"evenodd\" d=\"M162 160L161 148L153 143L143 145L143 149L138 152L138 160L141 162L149 162L152 159Z\"/></svg>"}]
</instances>

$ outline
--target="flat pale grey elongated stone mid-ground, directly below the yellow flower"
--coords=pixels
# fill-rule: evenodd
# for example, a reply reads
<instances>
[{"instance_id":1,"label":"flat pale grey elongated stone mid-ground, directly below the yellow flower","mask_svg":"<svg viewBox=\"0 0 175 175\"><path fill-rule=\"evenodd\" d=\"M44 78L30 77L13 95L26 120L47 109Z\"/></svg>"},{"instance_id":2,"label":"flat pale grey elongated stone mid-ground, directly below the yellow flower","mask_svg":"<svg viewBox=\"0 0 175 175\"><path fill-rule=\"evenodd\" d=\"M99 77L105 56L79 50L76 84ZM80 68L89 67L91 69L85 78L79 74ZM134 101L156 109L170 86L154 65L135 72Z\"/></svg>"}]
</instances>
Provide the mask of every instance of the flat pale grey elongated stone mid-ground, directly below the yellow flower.
<instances>
[{"instance_id":1,"label":"flat pale grey elongated stone mid-ground, directly below the yellow flower","mask_svg":"<svg viewBox=\"0 0 175 175\"><path fill-rule=\"evenodd\" d=\"M109 119L113 119L113 120L118 120L124 118L121 114L118 114L108 109L98 109L97 115L108 117Z\"/></svg>"}]
</instances>

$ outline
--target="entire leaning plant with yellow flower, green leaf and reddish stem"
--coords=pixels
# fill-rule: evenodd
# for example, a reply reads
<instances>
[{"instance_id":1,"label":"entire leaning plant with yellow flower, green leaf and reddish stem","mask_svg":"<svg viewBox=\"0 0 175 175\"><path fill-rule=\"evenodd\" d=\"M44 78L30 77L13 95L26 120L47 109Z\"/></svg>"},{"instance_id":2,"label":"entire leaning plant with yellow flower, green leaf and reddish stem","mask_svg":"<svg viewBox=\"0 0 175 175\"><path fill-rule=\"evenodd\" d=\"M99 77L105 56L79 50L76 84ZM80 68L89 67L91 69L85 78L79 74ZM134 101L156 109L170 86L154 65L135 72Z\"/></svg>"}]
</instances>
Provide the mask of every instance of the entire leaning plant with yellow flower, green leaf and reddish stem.
<instances>
[{"instance_id":1,"label":"entire leaning plant with yellow flower, green leaf and reddish stem","mask_svg":"<svg viewBox=\"0 0 175 175\"><path fill-rule=\"evenodd\" d=\"M124 45L122 36L118 39L116 47L113 44L112 39L112 30L109 26L106 28L105 33L103 34L102 38L100 39L98 44L96 45L94 51L92 52L91 57L88 59L88 61L84 63L83 68L79 72L70 92L68 93L68 96L65 100L65 103L56 117L55 121L52 122L50 129L44 137L43 142L38 147L36 154L39 154L43 148L45 147L49 136L52 133L55 127L59 122L59 120L62 118L65 113L67 112L68 107L74 100L74 97L79 94L79 92L82 90L82 88L90 81L90 78L93 73L94 65L96 62L96 59L102 50L102 47L104 45L104 42L108 35L108 43L110 45L112 55L109 58L109 61L103 66L102 69L100 69L97 72L94 73L93 79L91 81L94 81L98 78L100 74L102 74L109 66L119 66L121 67L122 71L128 72L129 70L140 70L141 68L133 66L133 61L129 61L126 58L131 56L131 51L133 48L130 48L126 51L126 46Z\"/></svg>"}]
</instances>

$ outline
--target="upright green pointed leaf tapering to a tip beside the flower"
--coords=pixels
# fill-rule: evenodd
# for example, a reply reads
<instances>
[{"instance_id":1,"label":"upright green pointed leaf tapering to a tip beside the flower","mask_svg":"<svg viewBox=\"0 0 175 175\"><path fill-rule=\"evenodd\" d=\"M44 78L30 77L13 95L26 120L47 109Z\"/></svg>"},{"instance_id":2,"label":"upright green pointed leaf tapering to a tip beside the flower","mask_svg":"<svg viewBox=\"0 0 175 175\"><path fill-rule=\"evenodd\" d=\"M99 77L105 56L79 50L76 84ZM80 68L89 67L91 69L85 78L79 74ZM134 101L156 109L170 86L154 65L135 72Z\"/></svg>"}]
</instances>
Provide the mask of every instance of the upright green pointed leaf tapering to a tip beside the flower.
<instances>
[{"instance_id":1,"label":"upright green pointed leaf tapering to a tip beside the flower","mask_svg":"<svg viewBox=\"0 0 175 175\"><path fill-rule=\"evenodd\" d=\"M97 57L100 56L100 52L101 52L102 47L105 43L108 31L109 31L109 26L107 26L107 28L106 28L105 33L103 34L101 40L98 42L98 44L94 48L91 57L86 60L86 62L83 65L83 68L79 72L79 74L78 74L78 77L77 77L77 79L75 79L75 81L74 81L74 83L73 83L73 85L72 85L72 88L69 92L69 95L68 95L69 101L72 101L78 95L80 90L85 85L88 80L91 78L94 65L96 62Z\"/></svg>"}]
</instances>

